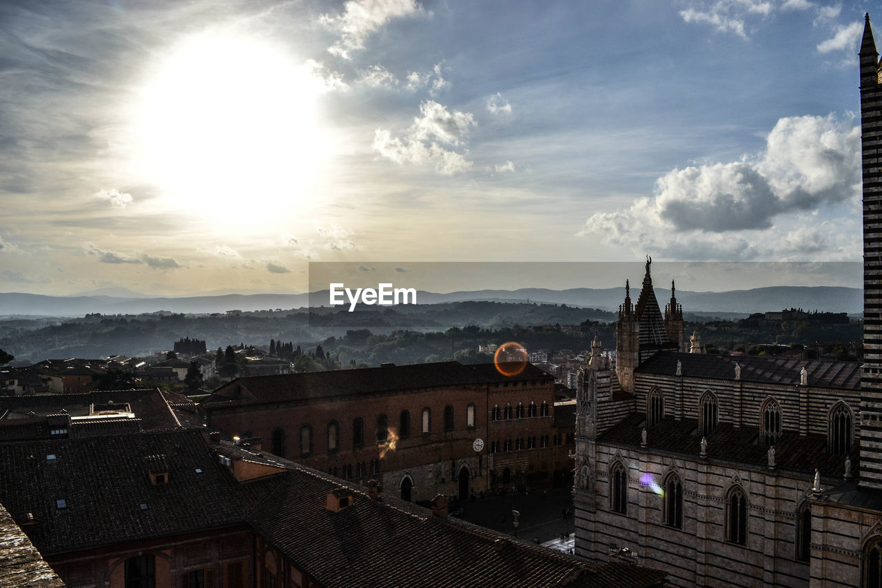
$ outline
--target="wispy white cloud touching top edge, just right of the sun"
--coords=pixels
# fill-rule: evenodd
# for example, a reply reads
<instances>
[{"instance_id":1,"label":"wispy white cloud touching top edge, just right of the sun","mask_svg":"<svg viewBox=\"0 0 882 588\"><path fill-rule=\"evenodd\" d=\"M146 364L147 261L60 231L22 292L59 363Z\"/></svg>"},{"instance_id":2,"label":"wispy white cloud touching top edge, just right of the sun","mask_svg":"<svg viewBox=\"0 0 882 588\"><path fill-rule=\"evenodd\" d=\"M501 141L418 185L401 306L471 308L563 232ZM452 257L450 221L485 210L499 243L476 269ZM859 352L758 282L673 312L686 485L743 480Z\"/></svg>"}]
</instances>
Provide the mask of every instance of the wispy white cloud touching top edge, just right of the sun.
<instances>
[{"instance_id":1,"label":"wispy white cloud touching top edge, just right of the sun","mask_svg":"<svg viewBox=\"0 0 882 588\"><path fill-rule=\"evenodd\" d=\"M364 41L392 19L400 19L422 11L415 0L349 0L343 11L325 14L320 21L340 34L328 51L337 57L351 59L351 52L364 49Z\"/></svg>"}]
</instances>

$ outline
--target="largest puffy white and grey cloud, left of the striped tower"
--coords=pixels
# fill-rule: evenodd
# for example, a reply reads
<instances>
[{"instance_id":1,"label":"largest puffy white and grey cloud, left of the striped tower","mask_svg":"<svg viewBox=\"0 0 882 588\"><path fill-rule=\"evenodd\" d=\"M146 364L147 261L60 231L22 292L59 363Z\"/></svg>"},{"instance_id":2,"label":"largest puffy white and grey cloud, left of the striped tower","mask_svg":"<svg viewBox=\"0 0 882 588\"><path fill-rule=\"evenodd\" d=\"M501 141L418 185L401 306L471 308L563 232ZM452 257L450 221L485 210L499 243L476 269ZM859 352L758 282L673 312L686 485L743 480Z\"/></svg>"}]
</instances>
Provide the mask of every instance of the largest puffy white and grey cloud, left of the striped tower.
<instances>
[{"instance_id":1,"label":"largest puffy white and grey cloud, left of the striped tower","mask_svg":"<svg viewBox=\"0 0 882 588\"><path fill-rule=\"evenodd\" d=\"M591 215L579 235L680 259L784 259L821 250L848 259L859 251L854 239L813 213L860 198L859 154L860 129L850 120L781 118L762 153L671 170L651 197Z\"/></svg>"}]
</instances>

